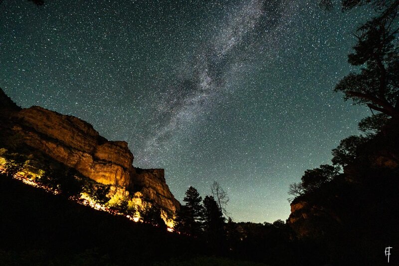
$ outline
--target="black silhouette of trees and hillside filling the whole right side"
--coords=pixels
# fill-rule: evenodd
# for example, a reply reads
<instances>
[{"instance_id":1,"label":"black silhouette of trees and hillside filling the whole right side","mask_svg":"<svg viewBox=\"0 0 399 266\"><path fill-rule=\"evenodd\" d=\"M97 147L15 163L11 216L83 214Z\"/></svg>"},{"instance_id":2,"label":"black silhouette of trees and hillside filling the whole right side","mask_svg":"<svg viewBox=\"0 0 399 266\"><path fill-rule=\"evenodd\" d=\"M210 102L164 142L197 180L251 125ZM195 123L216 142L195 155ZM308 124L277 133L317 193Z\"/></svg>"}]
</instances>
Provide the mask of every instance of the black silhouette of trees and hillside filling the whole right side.
<instances>
[{"instance_id":1,"label":"black silhouette of trees and hillside filling the whole right side","mask_svg":"<svg viewBox=\"0 0 399 266\"><path fill-rule=\"evenodd\" d=\"M305 171L301 182L290 185L287 223L298 239L324 248L315 255L321 263L387 265L385 249L399 248L399 1L342 5L346 11L369 5L375 14L354 33L348 62L360 71L335 88L372 115L359 123L361 135L343 139L332 151L331 164ZM392 256L390 263L398 260Z\"/></svg>"}]
</instances>

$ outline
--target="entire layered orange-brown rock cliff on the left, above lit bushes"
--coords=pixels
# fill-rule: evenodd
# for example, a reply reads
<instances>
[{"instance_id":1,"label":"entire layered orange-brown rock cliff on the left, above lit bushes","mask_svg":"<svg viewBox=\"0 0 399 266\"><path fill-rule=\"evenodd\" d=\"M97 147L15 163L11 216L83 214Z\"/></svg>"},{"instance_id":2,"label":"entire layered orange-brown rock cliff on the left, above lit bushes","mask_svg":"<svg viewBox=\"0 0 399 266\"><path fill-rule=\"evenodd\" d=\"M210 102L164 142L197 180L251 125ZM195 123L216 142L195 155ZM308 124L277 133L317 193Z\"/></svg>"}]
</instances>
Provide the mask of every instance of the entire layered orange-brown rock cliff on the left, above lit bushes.
<instances>
[{"instance_id":1,"label":"entire layered orange-brown rock cliff on the left, above lit bushes","mask_svg":"<svg viewBox=\"0 0 399 266\"><path fill-rule=\"evenodd\" d=\"M167 213L180 208L166 184L164 169L134 168L126 142L108 141L92 125L74 116L39 106L20 109L1 89L0 103L2 135L18 136L18 141L98 183L135 191Z\"/></svg>"}]
</instances>

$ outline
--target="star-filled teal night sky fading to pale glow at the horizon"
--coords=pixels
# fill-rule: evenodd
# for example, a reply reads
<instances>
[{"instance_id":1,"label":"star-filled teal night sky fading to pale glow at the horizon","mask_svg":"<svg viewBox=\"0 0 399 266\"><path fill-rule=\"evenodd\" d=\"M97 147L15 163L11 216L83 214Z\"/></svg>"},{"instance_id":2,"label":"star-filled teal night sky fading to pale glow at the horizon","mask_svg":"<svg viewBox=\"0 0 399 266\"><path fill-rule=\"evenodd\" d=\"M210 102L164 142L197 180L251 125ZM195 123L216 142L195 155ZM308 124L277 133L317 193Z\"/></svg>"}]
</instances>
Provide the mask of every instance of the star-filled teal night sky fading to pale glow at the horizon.
<instances>
[{"instance_id":1,"label":"star-filled teal night sky fading to pale glow at the horizon","mask_svg":"<svg viewBox=\"0 0 399 266\"><path fill-rule=\"evenodd\" d=\"M215 180L234 221L285 221L288 186L370 111L333 91L367 9L314 0L0 1L0 87L165 168L183 203Z\"/></svg>"}]
</instances>

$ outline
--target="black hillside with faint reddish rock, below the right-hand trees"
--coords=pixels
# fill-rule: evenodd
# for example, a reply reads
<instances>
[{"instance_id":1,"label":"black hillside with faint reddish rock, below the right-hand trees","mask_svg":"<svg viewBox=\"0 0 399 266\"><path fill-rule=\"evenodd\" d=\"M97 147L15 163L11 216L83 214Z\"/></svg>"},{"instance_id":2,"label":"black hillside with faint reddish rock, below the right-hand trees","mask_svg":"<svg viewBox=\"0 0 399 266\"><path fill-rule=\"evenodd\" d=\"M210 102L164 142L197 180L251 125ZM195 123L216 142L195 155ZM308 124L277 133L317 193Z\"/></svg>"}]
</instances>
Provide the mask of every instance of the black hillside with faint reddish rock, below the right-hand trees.
<instances>
[{"instance_id":1,"label":"black hillside with faint reddish rock, below the right-hand trees","mask_svg":"<svg viewBox=\"0 0 399 266\"><path fill-rule=\"evenodd\" d=\"M390 120L356 146L343 173L292 202L290 226L299 238L325 247L326 262L386 265L385 248L399 249L398 140L398 122Z\"/></svg>"}]
</instances>

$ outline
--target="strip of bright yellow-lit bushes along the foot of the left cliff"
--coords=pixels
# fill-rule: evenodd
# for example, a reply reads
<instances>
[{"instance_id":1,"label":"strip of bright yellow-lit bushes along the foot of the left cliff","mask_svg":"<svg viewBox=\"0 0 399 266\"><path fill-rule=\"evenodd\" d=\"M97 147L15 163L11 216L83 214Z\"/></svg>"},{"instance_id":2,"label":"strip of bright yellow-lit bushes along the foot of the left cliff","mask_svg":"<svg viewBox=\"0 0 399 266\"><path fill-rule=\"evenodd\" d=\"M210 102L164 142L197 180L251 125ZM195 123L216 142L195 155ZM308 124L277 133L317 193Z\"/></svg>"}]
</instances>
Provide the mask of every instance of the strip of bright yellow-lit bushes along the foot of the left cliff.
<instances>
[{"instance_id":1,"label":"strip of bright yellow-lit bushes along the foot of the left cliff","mask_svg":"<svg viewBox=\"0 0 399 266\"><path fill-rule=\"evenodd\" d=\"M37 156L37 155L36 155ZM14 178L25 184L42 188L53 194L63 194L70 200L96 210L125 216L134 222L145 222L173 231L174 221L155 204L141 199L134 199L129 192L117 188L112 192L110 186L95 183L83 177L75 169L60 163L51 162L46 169L38 162L42 158L34 155L25 156L0 149L0 172L7 178Z\"/></svg>"}]
</instances>

